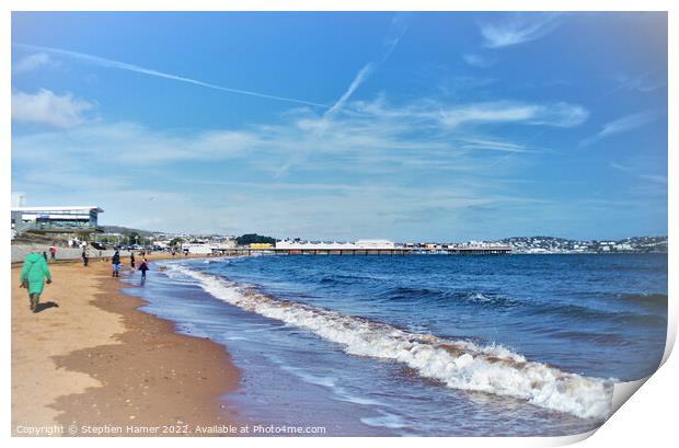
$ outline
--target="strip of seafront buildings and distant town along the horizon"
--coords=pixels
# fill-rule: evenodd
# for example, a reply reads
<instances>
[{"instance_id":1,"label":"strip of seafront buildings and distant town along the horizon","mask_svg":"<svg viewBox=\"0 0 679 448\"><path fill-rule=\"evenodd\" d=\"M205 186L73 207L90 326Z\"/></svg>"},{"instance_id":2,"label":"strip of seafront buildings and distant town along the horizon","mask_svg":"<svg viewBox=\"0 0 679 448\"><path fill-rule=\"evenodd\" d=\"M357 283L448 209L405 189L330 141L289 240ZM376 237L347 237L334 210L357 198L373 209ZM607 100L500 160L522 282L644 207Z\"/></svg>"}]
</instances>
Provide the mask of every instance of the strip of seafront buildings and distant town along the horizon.
<instances>
[{"instance_id":1,"label":"strip of seafront buildings and distant town along the horizon","mask_svg":"<svg viewBox=\"0 0 679 448\"><path fill-rule=\"evenodd\" d=\"M222 234L191 234L152 232L117 226L99 226L99 214L104 210L97 206L45 206L11 208L12 239L56 237L69 246L84 241L95 241L101 245L152 250L186 251L192 254L215 254L229 249L242 248L254 251L393 251L427 253L483 253L498 250L519 254L557 253L667 253L667 237L633 237L623 240L579 241L554 237L513 237L499 241L468 242L402 242L382 239L361 239L353 242L307 241L285 239L275 241L269 237L249 233L242 237ZM240 244L239 244L240 242Z\"/></svg>"}]
</instances>

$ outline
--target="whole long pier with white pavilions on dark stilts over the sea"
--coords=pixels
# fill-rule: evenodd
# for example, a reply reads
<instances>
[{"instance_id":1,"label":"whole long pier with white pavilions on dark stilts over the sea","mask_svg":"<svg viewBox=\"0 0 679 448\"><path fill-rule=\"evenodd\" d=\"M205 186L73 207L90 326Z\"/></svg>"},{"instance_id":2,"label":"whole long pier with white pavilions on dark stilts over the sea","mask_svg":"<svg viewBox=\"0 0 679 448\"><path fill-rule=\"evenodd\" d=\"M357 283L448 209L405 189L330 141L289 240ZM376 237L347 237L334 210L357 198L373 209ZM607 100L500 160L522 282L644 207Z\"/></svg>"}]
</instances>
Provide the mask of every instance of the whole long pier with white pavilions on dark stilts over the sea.
<instances>
[{"instance_id":1,"label":"whole long pier with white pavilions on dark stilts over the sea","mask_svg":"<svg viewBox=\"0 0 679 448\"><path fill-rule=\"evenodd\" d=\"M500 244L395 244L388 240L358 240L356 242L312 242L283 240L274 244L251 244L246 248L215 248L215 255L507 255L511 246Z\"/></svg>"}]
</instances>

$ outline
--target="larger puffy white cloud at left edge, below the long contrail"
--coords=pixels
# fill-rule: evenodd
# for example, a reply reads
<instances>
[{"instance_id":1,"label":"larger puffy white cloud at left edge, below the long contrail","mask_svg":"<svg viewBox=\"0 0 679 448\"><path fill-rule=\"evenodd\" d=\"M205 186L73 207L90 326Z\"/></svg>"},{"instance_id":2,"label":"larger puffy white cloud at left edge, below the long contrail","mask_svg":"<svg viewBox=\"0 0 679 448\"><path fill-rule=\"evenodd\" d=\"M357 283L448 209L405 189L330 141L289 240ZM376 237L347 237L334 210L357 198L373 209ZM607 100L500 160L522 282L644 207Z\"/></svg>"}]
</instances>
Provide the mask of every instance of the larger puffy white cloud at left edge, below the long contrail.
<instances>
[{"instance_id":1,"label":"larger puffy white cloud at left edge, below the long contrail","mask_svg":"<svg viewBox=\"0 0 679 448\"><path fill-rule=\"evenodd\" d=\"M12 119L21 123L69 128L84 123L84 113L93 106L70 93L58 95L46 89L12 93Z\"/></svg>"}]
</instances>

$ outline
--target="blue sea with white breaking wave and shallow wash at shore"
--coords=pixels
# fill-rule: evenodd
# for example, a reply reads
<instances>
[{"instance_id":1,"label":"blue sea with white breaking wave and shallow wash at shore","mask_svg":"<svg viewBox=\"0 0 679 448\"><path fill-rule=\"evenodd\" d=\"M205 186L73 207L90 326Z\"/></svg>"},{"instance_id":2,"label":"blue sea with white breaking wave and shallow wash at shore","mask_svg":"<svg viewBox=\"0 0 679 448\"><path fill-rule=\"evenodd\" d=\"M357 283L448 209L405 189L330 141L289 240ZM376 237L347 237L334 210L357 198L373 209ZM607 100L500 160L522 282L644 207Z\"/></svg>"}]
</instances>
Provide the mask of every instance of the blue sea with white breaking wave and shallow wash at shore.
<instances>
[{"instance_id":1,"label":"blue sea with white breaking wave and shallow wash at shore","mask_svg":"<svg viewBox=\"0 0 679 448\"><path fill-rule=\"evenodd\" d=\"M242 421L325 435L569 435L657 368L667 256L160 262L145 310L227 346ZM136 278L129 282L138 282Z\"/></svg>"}]
</instances>

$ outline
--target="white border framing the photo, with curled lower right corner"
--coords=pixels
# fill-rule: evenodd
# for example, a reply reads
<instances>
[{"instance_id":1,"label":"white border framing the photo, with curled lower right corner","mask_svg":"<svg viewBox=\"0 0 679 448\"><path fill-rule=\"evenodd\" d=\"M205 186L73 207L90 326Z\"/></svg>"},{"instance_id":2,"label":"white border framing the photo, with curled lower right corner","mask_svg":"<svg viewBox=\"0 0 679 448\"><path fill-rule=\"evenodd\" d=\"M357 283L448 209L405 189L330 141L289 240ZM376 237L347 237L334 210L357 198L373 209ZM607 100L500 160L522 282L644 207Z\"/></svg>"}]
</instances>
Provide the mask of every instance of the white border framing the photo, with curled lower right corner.
<instances>
[{"instance_id":1,"label":"white border framing the photo, with curled lower right corner","mask_svg":"<svg viewBox=\"0 0 679 448\"><path fill-rule=\"evenodd\" d=\"M646 0L646 1L610 1L610 0L477 0L474 2L467 1L440 1L440 0L393 0L389 2L373 1L373 0L322 0L322 1L303 1L303 0L251 0L248 2L226 2L215 0L97 0L97 1L84 1L84 0L70 0L70 1L49 1L49 0L5 0L1 3L0 9L2 13L0 15L0 79L2 80L2 102L3 105L0 108L0 116L2 117L0 124L0 141L2 145L1 151L1 165L3 170L7 170L3 174L10 174L10 147L11 147L11 125L10 125L10 111L11 111L11 76L10 76L10 55L11 55L11 11L154 11L154 10L172 10L172 11L668 11L669 20L669 73L668 73L668 92L669 99L679 97L675 80L677 78L677 20L675 12L677 7L676 2L663 1L663 0ZM677 122L676 102L668 102L669 106L669 148L678 148L676 129L679 129L679 123ZM677 307L675 291L677 290L677 251L674 249L675 229L677 229L677 204L679 192L679 182L676 177L677 171L677 154L676 151L669 151L668 154L668 191L669 191L669 240L670 240L670 255L669 255L669 331L668 331L668 345L665 353L664 360L668 359L668 355L671 352L677 333ZM7 205L7 211L10 208L10 193L11 193L11 176L2 176L2 188L4 189L4 204ZM5 211L5 212L7 212ZM9 240L2 241L2 248L4 253L10 252ZM2 279L4 287L4 303L9 307L10 300L7 297L9 291L9 256L2 260ZM7 311L7 308L5 308ZM2 378L5 386L5 391L10 391L10 343L11 343L11 317L9 313L4 313L4 333L2 337L2 353L4 355L5 363L3 364ZM672 410L675 402L678 398L676 378L679 378L679 367L676 356L669 358L661 369L652 376L646 384L644 384L642 392L634 394L630 399L630 403L622 406L621 411L615 413L609 422L607 422L597 433L595 437L590 437L585 441L584 446L609 446L618 444L651 444L666 446L670 440L676 440L677 430L675 429L676 423L672 417ZM7 400L4 400L2 406L2 416L5 422L5 437L10 434L10 409L11 403L9 400L9 393ZM398 439L390 438L388 440L375 440L372 438L352 438L352 444L380 444L387 443L394 446L410 446L411 444L431 444L438 446L456 445L473 445L473 446L490 446L502 444L504 446L553 446L575 443L583 439L586 435L563 437L563 438L417 438L413 439ZM302 438L273 438L266 439L272 444L283 444L284 446L291 445L307 445L315 447L319 440L302 439ZM24 444L34 444L35 440L27 438L12 438L9 440L12 445L23 446ZM179 446L184 440L181 439L162 439L154 440L164 445ZM234 439L192 439L191 443L205 443L205 444L233 444ZM92 440L89 439L53 439L50 443L57 445L69 446L89 446ZM146 444L145 439L129 439L125 441L131 444ZM238 439L238 445L242 446L255 446L260 444L258 439ZM340 446L344 445L346 440L340 438L324 439L323 445ZM119 443L115 439L99 439L96 444L117 446ZM115 445L114 445L115 444ZM176 445L175 445L176 444Z\"/></svg>"}]
</instances>

